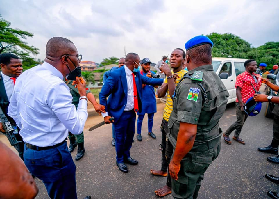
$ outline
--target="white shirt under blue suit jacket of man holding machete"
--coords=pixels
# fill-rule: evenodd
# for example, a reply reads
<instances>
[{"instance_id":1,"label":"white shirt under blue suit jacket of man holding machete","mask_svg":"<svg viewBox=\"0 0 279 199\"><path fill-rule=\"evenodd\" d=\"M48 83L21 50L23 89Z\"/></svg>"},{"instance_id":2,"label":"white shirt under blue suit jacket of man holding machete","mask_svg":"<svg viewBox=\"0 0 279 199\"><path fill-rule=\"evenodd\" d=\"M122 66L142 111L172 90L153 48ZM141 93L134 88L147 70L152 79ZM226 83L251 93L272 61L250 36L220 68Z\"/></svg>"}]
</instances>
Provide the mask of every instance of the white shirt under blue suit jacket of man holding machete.
<instances>
[{"instance_id":1,"label":"white shirt under blue suit jacket of man holding machete","mask_svg":"<svg viewBox=\"0 0 279 199\"><path fill-rule=\"evenodd\" d=\"M127 103L124 108L124 111L130 111L134 109L134 82L133 82L133 71L131 71L126 65L124 65L126 79L127 79ZM134 75L134 74L133 74ZM101 113L103 117L108 116L108 112Z\"/></svg>"}]
</instances>

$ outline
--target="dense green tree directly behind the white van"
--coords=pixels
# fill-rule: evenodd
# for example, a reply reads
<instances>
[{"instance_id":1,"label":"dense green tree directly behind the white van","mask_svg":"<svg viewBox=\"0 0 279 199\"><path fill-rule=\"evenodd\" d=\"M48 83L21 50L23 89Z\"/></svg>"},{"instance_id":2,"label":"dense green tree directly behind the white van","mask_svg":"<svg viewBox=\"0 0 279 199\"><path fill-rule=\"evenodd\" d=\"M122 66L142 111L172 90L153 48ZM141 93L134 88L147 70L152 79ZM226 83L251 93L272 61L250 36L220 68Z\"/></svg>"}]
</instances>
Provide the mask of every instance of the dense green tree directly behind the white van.
<instances>
[{"instance_id":1,"label":"dense green tree directly behind the white van","mask_svg":"<svg viewBox=\"0 0 279 199\"><path fill-rule=\"evenodd\" d=\"M251 44L232 33L207 35L214 43L212 57L247 58Z\"/></svg>"}]
</instances>

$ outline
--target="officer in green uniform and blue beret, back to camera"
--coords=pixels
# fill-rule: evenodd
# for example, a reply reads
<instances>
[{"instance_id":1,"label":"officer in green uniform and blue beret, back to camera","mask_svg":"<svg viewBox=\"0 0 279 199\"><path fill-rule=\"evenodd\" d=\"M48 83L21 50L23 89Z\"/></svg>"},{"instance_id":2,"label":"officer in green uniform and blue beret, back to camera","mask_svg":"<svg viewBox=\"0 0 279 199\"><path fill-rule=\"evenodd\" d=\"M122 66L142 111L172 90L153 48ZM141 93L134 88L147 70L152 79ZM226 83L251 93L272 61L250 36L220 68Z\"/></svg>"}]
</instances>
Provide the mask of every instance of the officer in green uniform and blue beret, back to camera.
<instances>
[{"instance_id":1,"label":"officer in green uniform and blue beret, back to camera","mask_svg":"<svg viewBox=\"0 0 279 199\"><path fill-rule=\"evenodd\" d=\"M174 81L168 81L174 93L167 134L174 147L169 164L174 198L197 198L203 174L220 152L219 119L229 93L213 71L212 46L205 36L190 39L185 44L189 72L175 89ZM171 75L165 65L160 70Z\"/></svg>"}]
</instances>

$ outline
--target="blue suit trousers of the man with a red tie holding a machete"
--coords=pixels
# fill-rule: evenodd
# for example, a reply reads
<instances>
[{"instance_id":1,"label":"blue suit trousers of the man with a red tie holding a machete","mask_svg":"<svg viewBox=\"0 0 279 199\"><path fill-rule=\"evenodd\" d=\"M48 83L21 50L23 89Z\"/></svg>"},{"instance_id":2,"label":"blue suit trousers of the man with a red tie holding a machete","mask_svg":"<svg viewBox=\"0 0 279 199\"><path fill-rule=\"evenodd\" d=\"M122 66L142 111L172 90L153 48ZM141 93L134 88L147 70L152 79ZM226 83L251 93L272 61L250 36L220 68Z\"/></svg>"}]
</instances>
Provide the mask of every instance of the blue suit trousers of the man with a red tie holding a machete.
<instances>
[{"instance_id":1,"label":"blue suit trousers of the man with a red tie holding a machete","mask_svg":"<svg viewBox=\"0 0 279 199\"><path fill-rule=\"evenodd\" d=\"M124 111L114 124L115 127L115 150L116 161L121 163L124 158L130 157L130 148L132 147L135 134L136 114L134 110Z\"/></svg>"}]
</instances>

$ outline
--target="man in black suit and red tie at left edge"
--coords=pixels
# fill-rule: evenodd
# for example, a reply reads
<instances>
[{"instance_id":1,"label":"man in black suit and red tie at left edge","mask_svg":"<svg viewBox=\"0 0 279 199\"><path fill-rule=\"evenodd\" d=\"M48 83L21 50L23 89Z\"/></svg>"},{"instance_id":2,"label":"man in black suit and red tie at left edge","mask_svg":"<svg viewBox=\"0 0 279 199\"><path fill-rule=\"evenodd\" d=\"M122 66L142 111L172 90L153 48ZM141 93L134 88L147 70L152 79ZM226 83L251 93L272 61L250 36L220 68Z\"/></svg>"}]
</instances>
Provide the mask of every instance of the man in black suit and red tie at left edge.
<instances>
[{"instance_id":1,"label":"man in black suit and red tie at left edge","mask_svg":"<svg viewBox=\"0 0 279 199\"><path fill-rule=\"evenodd\" d=\"M10 104L9 100L12 96L14 90L14 85L17 77L22 73L22 62L20 58L11 53L0 54L0 107L3 113L6 115L8 121L16 129L14 132L15 137L19 143L17 144L19 157L23 160L23 150L24 142L22 137L19 135L19 128L17 127L15 121L8 116L8 106ZM0 131L5 132L3 129L3 124L0 122Z\"/></svg>"}]
</instances>

